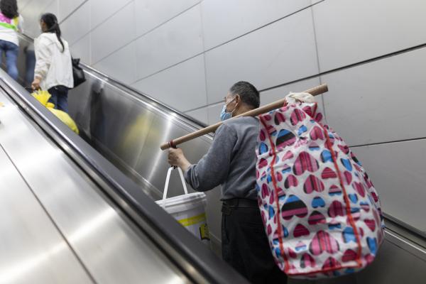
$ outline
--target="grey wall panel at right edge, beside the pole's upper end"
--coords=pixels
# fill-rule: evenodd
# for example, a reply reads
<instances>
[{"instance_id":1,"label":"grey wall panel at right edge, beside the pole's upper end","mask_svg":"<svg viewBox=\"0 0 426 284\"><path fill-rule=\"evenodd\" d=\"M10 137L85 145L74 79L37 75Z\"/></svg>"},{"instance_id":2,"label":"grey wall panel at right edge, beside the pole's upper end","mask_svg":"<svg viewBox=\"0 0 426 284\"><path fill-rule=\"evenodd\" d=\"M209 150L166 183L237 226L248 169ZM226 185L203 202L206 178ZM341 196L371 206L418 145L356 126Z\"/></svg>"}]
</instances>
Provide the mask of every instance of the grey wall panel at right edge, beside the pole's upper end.
<instances>
[{"instance_id":1,"label":"grey wall panel at right edge, beside the pole's upper end","mask_svg":"<svg viewBox=\"0 0 426 284\"><path fill-rule=\"evenodd\" d=\"M426 136L426 48L322 76L329 124L350 145Z\"/></svg>"}]
</instances>

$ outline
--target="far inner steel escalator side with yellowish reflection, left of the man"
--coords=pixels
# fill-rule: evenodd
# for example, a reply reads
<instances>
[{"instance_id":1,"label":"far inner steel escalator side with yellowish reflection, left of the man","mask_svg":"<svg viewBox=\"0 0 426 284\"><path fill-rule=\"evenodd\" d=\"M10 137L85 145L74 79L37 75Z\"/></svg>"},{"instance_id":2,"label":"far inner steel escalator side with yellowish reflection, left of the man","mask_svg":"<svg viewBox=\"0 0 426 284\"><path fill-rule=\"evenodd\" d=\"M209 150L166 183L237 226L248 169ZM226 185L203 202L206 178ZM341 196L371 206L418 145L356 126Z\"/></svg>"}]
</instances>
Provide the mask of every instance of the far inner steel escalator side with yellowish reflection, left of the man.
<instances>
[{"instance_id":1,"label":"far inner steel escalator side with yellowish reflection, left of the man","mask_svg":"<svg viewBox=\"0 0 426 284\"><path fill-rule=\"evenodd\" d=\"M159 141L170 141L195 127L90 73L85 84L70 91L69 101L70 114L84 126L89 143L130 178L149 188L146 193L154 200L160 199L170 165L167 151L160 151ZM87 125L89 128L85 128ZM203 136L181 148L190 161L196 162L211 143L211 136ZM175 186L170 187L169 197L182 195L178 175L172 175L170 184ZM207 221L215 251L220 248L220 206L217 187L207 193Z\"/></svg>"}]
</instances>

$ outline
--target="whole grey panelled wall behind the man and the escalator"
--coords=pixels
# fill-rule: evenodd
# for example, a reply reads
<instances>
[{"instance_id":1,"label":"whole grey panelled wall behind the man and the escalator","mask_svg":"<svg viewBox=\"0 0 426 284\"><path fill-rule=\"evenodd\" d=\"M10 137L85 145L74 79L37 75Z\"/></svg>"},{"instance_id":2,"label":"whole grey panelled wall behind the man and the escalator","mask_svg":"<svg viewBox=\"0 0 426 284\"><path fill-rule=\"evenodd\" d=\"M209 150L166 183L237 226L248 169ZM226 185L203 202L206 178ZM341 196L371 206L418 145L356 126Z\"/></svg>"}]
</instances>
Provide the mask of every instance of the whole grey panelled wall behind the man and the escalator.
<instances>
[{"instance_id":1,"label":"whole grey panelled wall behind the man and the escalator","mask_svg":"<svg viewBox=\"0 0 426 284\"><path fill-rule=\"evenodd\" d=\"M207 124L248 80L262 104L321 82L385 212L426 231L426 1L21 0L27 33L59 15L72 53Z\"/></svg>"}]
</instances>

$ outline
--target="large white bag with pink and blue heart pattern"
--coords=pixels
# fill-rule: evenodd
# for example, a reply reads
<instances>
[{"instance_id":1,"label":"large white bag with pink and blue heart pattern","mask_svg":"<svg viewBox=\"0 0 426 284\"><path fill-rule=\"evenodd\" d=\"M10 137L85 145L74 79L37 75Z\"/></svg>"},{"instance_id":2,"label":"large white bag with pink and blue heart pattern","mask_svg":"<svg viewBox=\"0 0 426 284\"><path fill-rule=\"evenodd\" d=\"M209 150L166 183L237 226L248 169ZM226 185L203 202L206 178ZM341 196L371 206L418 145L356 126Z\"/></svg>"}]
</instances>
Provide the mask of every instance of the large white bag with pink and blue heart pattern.
<instances>
[{"instance_id":1,"label":"large white bag with pink and blue heart pattern","mask_svg":"<svg viewBox=\"0 0 426 284\"><path fill-rule=\"evenodd\" d=\"M376 256L383 218L354 153L324 124L317 104L259 116L258 202L275 262L295 278L354 273Z\"/></svg>"}]
</instances>

